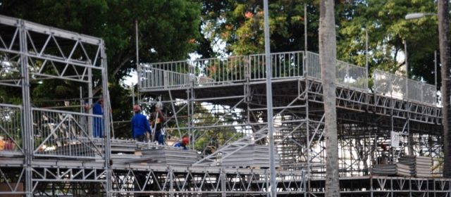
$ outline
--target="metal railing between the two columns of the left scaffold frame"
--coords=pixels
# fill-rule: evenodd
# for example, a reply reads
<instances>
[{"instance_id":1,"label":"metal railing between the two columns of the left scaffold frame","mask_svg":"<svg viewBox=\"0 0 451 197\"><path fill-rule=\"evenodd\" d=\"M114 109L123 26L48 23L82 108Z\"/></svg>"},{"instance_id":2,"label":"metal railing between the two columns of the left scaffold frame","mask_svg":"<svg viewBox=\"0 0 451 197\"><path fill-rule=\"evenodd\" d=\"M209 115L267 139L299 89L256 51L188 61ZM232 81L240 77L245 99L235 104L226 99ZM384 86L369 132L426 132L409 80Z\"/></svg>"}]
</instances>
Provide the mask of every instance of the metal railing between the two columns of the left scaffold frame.
<instances>
[{"instance_id":1,"label":"metal railing between the two columns of the left scaffold frame","mask_svg":"<svg viewBox=\"0 0 451 197\"><path fill-rule=\"evenodd\" d=\"M32 108L34 155L76 158L99 158L101 144L89 135L89 115L60 110Z\"/></svg>"}]
</instances>

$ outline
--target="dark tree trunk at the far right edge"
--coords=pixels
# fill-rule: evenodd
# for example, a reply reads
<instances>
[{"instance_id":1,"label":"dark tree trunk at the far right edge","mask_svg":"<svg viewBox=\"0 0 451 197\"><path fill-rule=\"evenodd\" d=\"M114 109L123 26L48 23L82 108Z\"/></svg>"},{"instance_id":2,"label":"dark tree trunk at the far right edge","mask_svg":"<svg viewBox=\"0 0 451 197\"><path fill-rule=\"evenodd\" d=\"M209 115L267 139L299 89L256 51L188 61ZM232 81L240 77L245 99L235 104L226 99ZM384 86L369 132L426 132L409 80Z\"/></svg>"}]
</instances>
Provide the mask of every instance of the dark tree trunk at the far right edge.
<instances>
[{"instance_id":1,"label":"dark tree trunk at the far right edge","mask_svg":"<svg viewBox=\"0 0 451 197\"><path fill-rule=\"evenodd\" d=\"M451 138L450 138L450 16L448 13L448 0L438 1L438 39L440 40L440 62L442 63L442 122L443 122L443 177L451 178Z\"/></svg>"}]
</instances>

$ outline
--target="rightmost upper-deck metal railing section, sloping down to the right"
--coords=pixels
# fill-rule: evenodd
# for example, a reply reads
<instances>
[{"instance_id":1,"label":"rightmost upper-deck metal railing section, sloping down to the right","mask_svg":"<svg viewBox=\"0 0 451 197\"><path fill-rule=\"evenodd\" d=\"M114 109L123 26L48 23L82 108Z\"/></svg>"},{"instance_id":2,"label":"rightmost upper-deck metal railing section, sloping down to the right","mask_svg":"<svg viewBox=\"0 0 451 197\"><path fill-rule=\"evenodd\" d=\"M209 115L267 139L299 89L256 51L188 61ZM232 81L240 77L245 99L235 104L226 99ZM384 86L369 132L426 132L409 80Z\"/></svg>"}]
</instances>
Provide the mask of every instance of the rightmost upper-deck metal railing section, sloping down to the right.
<instances>
[{"instance_id":1,"label":"rightmost upper-deck metal railing section, sloping down to the right","mask_svg":"<svg viewBox=\"0 0 451 197\"><path fill-rule=\"evenodd\" d=\"M377 94L385 94L393 98L408 99L428 105L437 104L435 86L415 80L407 80L406 77L374 70L374 91Z\"/></svg>"}]
</instances>

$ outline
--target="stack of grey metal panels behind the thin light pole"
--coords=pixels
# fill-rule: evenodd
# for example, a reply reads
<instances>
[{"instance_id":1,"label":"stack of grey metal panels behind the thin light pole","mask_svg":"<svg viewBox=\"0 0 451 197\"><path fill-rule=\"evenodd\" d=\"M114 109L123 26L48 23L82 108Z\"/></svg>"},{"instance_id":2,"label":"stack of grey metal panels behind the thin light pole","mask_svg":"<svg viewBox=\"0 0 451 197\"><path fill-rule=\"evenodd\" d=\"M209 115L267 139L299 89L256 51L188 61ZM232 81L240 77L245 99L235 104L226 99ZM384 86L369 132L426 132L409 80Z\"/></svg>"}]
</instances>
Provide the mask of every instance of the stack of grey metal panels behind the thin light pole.
<instances>
[{"instance_id":1,"label":"stack of grey metal panels behind the thin light pole","mask_svg":"<svg viewBox=\"0 0 451 197\"><path fill-rule=\"evenodd\" d=\"M235 153L223 158L222 166L225 167L269 167L269 146L259 146L251 144L241 148ZM274 150L274 164L280 167L280 158L276 149Z\"/></svg>"}]
</instances>

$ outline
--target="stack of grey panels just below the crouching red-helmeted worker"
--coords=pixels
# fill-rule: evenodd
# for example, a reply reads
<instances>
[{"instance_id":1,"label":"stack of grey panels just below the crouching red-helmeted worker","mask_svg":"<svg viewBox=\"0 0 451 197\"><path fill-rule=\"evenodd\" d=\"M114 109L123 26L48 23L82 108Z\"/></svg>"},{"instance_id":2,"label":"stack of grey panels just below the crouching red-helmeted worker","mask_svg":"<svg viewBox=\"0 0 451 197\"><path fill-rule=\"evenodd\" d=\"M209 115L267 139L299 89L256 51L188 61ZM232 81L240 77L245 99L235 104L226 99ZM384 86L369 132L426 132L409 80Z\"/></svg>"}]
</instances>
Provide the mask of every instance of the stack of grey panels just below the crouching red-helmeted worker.
<instances>
[{"instance_id":1,"label":"stack of grey panels just below the crouching red-helmeted worker","mask_svg":"<svg viewBox=\"0 0 451 197\"><path fill-rule=\"evenodd\" d=\"M147 147L137 150L137 152L147 163L157 165L191 166L200 160L200 155L196 151L183 150L172 146Z\"/></svg>"}]
</instances>

